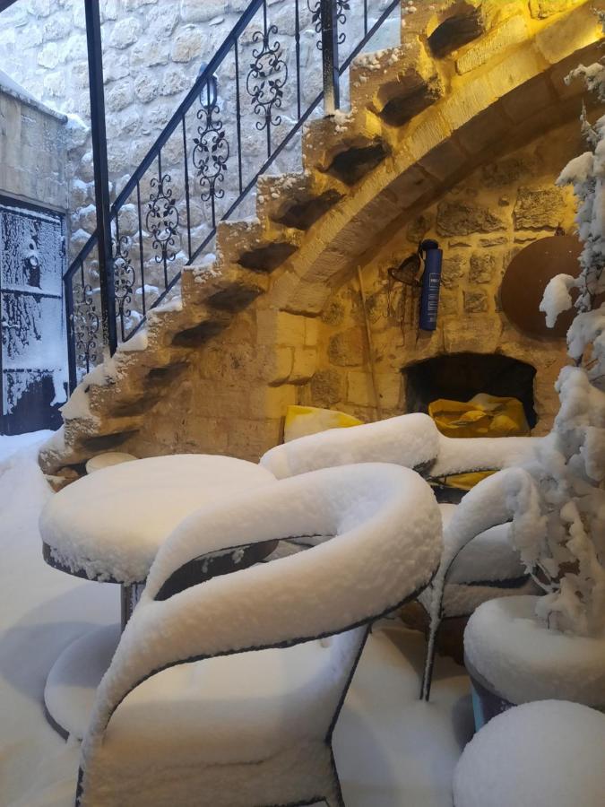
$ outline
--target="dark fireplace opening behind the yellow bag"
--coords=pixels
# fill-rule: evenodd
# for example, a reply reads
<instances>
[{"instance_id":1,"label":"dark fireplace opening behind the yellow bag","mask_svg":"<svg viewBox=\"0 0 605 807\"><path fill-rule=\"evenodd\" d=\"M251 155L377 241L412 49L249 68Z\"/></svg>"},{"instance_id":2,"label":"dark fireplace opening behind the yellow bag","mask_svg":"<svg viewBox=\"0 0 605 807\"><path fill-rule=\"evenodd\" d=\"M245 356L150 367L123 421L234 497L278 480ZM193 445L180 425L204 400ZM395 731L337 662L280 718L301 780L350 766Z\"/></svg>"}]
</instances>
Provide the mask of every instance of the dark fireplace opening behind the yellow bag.
<instances>
[{"instance_id":1,"label":"dark fireplace opening behind the yellow bag","mask_svg":"<svg viewBox=\"0 0 605 807\"><path fill-rule=\"evenodd\" d=\"M488 393L521 401L531 429L538 421L533 406L536 369L524 361L495 353L453 353L419 361L402 373L408 412L428 412L428 404L437 398L469 401Z\"/></svg>"}]
</instances>

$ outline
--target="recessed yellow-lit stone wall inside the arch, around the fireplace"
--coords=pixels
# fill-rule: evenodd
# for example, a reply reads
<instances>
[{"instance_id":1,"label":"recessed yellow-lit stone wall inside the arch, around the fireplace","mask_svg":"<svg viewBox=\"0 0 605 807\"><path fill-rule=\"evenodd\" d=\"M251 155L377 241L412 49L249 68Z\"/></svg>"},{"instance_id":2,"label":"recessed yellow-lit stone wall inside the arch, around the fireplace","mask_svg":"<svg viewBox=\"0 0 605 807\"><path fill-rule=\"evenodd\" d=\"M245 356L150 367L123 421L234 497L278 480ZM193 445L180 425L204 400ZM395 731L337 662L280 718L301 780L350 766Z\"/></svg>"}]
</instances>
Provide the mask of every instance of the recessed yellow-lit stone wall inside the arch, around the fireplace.
<instances>
[{"instance_id":1,"label":"recessed yellow-lit stone wall inside the arch, around the fireplace","mask_svg":"<svg viewBox=\"0 0 605 807\"><path fill-rule=\"evenodd\" d=\"M553 385L566 360L565 340L532 338L519 331L501 312L499 289L520 249L552 236L559 225L566 233L574 231L573 195L554 183L566 162L582 151L578 128L576 121L559 126L488 162L412 221L401 222L386 243L376 245L362 278L385 417L407 411L402 374L407 366L447 353L497 352L537 369L535 433L549 430L557 412ZM417 329L417 293L408 290L402 299L402 285L388 275L389 267L399 266L424 238L437 239L444 249L438 325L432 334ZM299 402L373 420L376 399L356 277L328 300L318 340L317 371L300 390Z\"/></svg>"}]
</instances>

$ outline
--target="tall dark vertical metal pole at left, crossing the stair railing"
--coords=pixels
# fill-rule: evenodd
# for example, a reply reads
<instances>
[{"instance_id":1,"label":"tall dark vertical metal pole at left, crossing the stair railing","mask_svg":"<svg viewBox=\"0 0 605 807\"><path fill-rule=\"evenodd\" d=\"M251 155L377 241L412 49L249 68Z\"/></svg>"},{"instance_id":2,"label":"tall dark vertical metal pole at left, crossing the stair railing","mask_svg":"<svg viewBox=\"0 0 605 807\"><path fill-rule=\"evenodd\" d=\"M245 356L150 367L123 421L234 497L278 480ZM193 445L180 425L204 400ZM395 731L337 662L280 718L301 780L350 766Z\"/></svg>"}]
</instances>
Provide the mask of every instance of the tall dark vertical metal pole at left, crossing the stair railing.
<instances>
[{"instance_id":1,"label":"tall dark vertical metal pole at left, crossing the stair railing","mask_svg":"<svg viewBox=\"0 0 605 807\"><path fill-rule=\"evenodd\" d=\"M91 91L91 138L94 162L94 193L97 208L99 282L103 343L113 355L117 348L116 296L111 255L109 218L108 144L105 134L105 94L103 91L103 52L101 49L99 0L84 0L88 77Z\"/></svg>"}]
</instances>

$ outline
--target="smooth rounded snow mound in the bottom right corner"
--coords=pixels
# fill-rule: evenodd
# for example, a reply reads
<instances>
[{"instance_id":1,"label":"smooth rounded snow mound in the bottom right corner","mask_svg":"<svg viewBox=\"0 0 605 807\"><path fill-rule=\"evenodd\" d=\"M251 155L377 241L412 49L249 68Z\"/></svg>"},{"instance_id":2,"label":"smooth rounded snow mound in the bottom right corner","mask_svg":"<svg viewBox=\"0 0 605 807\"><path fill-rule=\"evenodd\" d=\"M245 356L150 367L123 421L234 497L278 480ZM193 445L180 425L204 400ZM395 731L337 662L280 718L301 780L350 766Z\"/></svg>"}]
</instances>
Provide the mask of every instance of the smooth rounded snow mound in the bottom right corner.
<instances>
[{"instance_id":1,"label":"smooth rounded snow mound in the bottom right corner","mask_svg":"<svg viewBox=\"0 0 605 807\"><path fill-rule=\"evenodd\" d=\"M462 752L454 807L602 807L605 715L539 700L493 717Z\"/></svg>"}]
</instances>

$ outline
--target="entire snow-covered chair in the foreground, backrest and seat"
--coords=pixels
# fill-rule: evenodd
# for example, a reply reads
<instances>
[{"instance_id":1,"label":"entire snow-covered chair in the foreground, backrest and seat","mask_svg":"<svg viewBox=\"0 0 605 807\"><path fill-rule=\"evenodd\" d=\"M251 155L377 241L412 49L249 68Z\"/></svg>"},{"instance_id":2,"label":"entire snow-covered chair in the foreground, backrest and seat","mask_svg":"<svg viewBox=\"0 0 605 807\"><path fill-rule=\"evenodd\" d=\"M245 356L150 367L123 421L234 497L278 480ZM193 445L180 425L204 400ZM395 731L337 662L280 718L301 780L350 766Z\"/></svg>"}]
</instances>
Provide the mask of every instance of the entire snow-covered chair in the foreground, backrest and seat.
<instances>
[{"instance_id":1,"label":"entire snow-covered chair in the foreground, backrest and seat","mask_svg":"<svg viewBox=\"0 0 605 807\"><path fill-rule=\"evenodd\" d=\"M238 560L244 543L305 535L324 540L166 598L202 553ZM77 803L343 804L332 735L369 625L427 586L441 547L428 484L393 464L303 474L187 517L100 683Z\"/></svg>"}]
</instances>

